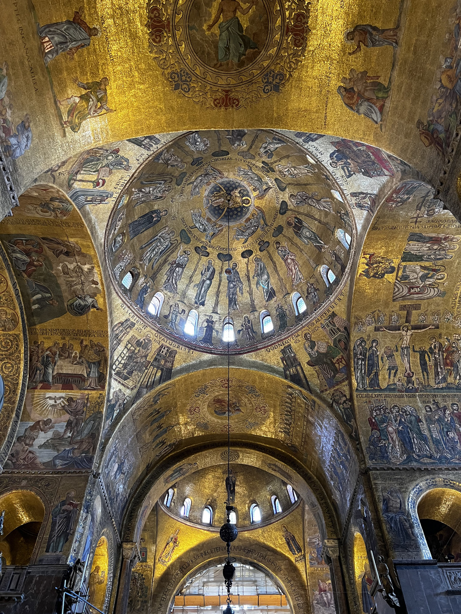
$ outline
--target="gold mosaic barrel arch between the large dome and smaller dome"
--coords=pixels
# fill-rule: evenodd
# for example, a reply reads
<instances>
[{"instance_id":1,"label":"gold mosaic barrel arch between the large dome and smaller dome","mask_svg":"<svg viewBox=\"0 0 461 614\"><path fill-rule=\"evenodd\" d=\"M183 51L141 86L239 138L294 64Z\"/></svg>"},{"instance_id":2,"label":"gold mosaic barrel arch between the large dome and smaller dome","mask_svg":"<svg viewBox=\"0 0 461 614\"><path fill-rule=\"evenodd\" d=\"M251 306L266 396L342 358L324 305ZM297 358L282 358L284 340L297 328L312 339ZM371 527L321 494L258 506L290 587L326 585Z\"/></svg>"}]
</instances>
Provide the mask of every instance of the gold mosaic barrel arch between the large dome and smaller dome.
<instances>
[{"instance_id":1,"label":"gold mosaic barrel arch between the large dome and smaller dome","mask_svg":"<svg viewBox=\"0 0 461 614\"><path fill-rule=\"evenodd\" d=\"M155 500L148 497L167 469L179 462L191 463L195 452L222 446L227 440L227 418L219 404L226 378L224 368L181 376L144 396L117 426L104 454L101 476L118 526L124 520L129 527L125 530L132 533L136 516L146 505L147 515L165 491L164 484L158 492L156 487ZM231 419L231 441L268 454L266 463L281 463L285 471L296 467L323 508L329 509L332 532L333 527L341 532L339 527L352 503L358 464L331 410L293 384L266 373L232 368L230 379L238 393L239 410ZM127 488L120 488L122 481ZM126 511L128 501L130 512Z\"/></svg>"}]
</instances>

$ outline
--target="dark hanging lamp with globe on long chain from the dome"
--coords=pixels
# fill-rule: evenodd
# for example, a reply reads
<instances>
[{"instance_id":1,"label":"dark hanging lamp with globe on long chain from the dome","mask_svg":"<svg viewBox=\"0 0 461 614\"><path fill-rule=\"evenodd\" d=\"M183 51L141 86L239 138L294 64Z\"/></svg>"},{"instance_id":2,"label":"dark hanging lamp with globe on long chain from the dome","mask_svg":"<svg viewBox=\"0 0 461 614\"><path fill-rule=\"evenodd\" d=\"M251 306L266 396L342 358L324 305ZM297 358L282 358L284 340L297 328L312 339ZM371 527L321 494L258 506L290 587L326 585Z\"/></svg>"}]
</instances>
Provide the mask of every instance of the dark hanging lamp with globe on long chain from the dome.
<instances>
[{"instance_id":1,"label":"dark hanging lamp with globe on long chain from the dome","mask_svg":"<svg viewBox=\"0 0 461 614\"><path fill-rule=\"evenodd\" d=\"M227 198L227 254L230 251L230 224L229 224L229 198ZM226 268L224 271L226 276L232 275L232 269ZM228 293L229 294L229 293ZM230 322L230 297L227 297L227 322ZM226 480L226 522L219 530L219 537L226 542L227 546L227 558L223 567L224 585L227 591L227 606L223 614L234 614L234 610L230 604L232 599L230 598L230 589L232 588L232 580L234 580L235 567L230 561L230 543L237 539L238 531L235 524L230 522L230 512L232 511L232 505L230 505L230 340L227 341L227 480Z\"/></svg>"}]
</instances>

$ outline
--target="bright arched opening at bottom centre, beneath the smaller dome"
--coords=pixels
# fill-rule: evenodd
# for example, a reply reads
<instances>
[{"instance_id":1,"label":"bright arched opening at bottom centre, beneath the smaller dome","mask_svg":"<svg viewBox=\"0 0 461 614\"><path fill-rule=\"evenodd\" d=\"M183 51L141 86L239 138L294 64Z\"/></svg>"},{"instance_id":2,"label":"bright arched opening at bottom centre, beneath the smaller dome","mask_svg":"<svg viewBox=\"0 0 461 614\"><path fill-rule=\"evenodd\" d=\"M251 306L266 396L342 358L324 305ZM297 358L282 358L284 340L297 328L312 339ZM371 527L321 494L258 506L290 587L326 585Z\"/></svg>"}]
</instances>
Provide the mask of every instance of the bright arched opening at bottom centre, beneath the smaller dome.
<instances>
[{"instance_id":1,"label":"bright arched opening at bottom centre, beneath the smaller dome","mask_svg":"<svg viewBox=\"0 0 461 614\"><path fill-rule=\"evenodd\" d=\"M272 610L280 614L291 614L290 605L280 586L273 578L251 565L235 561L235 575L232 581L232 607L257 612ZM211 614L221 614L226 606L226 587L223 582L223 565L201 570L188 578L175 597L173 614L186 614L191 607L200 605Z\"/></svg>"}]
</instances>

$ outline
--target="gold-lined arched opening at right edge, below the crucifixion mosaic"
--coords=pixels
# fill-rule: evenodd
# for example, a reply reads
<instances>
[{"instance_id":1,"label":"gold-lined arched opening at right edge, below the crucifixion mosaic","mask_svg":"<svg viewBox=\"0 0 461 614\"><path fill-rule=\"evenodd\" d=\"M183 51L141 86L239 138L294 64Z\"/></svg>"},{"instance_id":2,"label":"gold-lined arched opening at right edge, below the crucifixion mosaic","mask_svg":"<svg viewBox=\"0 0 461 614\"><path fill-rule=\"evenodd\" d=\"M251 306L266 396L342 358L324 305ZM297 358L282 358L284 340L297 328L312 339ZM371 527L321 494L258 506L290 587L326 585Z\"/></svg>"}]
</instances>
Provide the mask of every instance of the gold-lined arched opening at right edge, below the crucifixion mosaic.
<instances>
[{"instance_id":1,"label":"gold-lined arched opening at right edge, below the crucifixion mosaic","mask_svg":"<svg viewBox=\"0 0 461 614\"><path fill-rule=\"evenodd\" d=\"M417 511L432 558L461 562L461 492L434 488L420 499Z\"/></svg>"}]
</instances>

